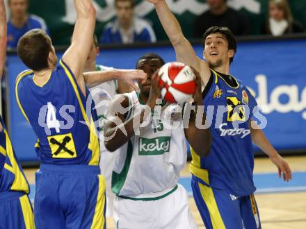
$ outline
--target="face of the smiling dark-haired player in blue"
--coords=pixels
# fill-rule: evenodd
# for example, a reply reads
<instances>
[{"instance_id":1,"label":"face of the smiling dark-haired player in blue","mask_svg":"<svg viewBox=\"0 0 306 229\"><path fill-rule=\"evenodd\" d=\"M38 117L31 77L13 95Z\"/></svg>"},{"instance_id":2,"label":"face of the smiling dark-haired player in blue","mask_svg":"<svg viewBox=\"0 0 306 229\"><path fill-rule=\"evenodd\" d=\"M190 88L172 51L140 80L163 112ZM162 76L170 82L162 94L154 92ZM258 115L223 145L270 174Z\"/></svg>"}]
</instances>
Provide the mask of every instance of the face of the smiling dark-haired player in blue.
<instances>
[{"instance_id":1,"label":"face of the smiling dark-haired player in blue","mask_svg":"<svg viewBox=\"0 0 306 229\"><path fill-rule=\"evenodd\" d=\"M230 58L234 51L228 49L228 43L221 33L212 33L204 41L203 58L209 63L209 67L216 68L230 64Z\"/></svg>"}]
</instances>

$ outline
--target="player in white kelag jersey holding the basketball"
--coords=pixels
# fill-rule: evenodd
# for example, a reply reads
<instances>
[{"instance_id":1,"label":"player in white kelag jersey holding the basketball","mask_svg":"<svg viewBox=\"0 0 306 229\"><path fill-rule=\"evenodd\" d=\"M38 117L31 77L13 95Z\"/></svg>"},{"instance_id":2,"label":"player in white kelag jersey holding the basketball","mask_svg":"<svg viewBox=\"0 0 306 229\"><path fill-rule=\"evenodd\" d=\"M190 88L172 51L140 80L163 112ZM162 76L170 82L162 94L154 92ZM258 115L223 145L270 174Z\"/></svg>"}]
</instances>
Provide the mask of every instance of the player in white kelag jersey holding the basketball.
<instances>
[{"instance_id":1,"label":"player in white kelag jersey holding the basketball","mask_svg":"<svg viewBox=\"0 0 306 229\"><path fill-rule=\"evenodd\" d=\"M118 95L108 108L104 143L109 151L119 149L112 176L118 228L196 228L186 190L177 182L186 165L185 135L194 139L197 153L206 155L210 145L204 146L202 138L210 139L210 133L195 128L195 115L184 133L179 105L161 103L160 76L154 73L163 64L154 53L141 56L136 69L145 71L147 81L138 81L139 93ZM197 84L193 97L202 104L200 76Z\"/></svg>"}]
</instances>

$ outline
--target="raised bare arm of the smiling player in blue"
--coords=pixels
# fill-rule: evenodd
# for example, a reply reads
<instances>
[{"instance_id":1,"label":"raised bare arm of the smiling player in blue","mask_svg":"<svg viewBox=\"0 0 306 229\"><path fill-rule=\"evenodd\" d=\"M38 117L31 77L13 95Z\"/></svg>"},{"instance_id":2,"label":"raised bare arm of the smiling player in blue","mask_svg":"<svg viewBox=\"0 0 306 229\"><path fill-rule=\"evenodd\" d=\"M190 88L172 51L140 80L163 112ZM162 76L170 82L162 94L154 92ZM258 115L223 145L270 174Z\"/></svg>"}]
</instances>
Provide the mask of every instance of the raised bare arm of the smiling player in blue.
<instances>
[{"instance_id":1,"label":"raised bare arm of the smiling player in blue","mask_svg":"<svg viewBox=\"0 0 306 229\"><path fill-rule=\"evenodd\" d=\"M184 37L182 28L179 25L179 22L177 22L175 16L170 11L166 1L147 1L154 3L159 20L163 25L163 29L166 31L170 42L175 49L177 61L183 62L184 64L189 65L199 71L202 78L202 83L206 85L210 77L209 66L207 65L207 62L200 60L200 58L195 55L195 51L193 50L191 43L186 40L186 37Z\"/></svg>"}]
</instances>

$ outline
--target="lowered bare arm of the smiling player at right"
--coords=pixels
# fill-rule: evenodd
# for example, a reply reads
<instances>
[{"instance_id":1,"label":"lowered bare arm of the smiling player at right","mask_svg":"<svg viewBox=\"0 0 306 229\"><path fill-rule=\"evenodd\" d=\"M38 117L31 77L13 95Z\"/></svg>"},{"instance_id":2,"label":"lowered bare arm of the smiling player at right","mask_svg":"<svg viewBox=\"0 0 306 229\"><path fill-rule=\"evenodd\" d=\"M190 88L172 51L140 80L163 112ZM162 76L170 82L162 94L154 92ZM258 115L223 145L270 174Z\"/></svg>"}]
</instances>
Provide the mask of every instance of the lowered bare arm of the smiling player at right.
<instances>
[{"instance_id":1,"label":"lowered bare arm of the smiling player at right","mask_svg":"<svg viewBox=\"0 0 306 229\"><path fill-rule=\"evenodd\" d=\"M286 181L289 181L292 178L291 169L289 164L284 161L284 159L277 153L271 143L268 141L262 130L259 129L259 126L254 123L249 122L249 128L251 132L252 142L256 144L259 149L264 151L266 155L270 158L273 164L278 168L278 177L282 176Z\"/></svg>"}]
</instances>

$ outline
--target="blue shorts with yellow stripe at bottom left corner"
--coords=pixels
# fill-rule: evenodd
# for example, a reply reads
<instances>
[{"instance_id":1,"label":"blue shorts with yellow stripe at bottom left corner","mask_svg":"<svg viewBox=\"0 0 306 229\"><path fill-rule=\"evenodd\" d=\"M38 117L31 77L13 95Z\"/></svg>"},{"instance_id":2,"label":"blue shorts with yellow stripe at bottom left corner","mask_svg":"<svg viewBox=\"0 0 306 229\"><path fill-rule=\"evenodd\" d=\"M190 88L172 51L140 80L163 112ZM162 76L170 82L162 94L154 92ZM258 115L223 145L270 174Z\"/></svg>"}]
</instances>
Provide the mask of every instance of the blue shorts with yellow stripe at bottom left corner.
<instances>
[{"instance_id":1,"label":"blue shorts with yellow stripe at bottom left corner","mask_svg":"<svg viewBox=\"0 0 306 229\"><path fill-rule=\"evenodd\" d=\"M0 193L0 228L34 229L33 209L27 194Z\"/></svg>"}]
</instances>

